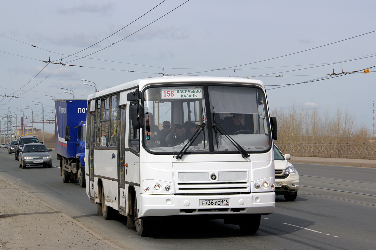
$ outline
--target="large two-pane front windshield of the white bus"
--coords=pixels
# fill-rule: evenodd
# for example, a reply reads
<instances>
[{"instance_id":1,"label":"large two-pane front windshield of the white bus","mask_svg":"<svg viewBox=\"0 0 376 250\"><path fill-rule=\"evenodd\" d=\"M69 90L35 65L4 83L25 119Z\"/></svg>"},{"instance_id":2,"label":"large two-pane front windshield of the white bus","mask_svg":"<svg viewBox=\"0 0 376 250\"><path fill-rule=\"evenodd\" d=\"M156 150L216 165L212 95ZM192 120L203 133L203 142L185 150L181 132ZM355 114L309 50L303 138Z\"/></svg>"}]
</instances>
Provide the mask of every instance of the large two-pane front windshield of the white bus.
<instances>
[{"instance_id":1,"label":"large two-pane front windshield of the white bus","mask_svg":"<svg viewBox=\"0 0 376 250\"><path fill-rule=\"evenodd\" d=\"M255 86L151 87L144 110L143 146L151 153L261 153L271 146L265 94Z\"/></svg>"}]
</instances>

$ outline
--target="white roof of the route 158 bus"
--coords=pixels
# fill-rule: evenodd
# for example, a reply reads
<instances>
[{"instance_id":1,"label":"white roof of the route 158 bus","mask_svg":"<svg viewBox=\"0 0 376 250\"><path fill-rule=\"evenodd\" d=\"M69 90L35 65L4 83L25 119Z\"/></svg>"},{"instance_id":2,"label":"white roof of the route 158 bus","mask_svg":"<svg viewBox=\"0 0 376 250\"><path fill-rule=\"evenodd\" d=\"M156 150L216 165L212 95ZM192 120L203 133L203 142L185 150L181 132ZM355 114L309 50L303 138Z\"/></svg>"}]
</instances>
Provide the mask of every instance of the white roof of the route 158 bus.
<instances>
[{"instance_id":1,"label":"white roof of the route 158 bus","mask_svg":"<svg viewBox=\"0 0 376 250\"><path fill-rule=\"evenodd\" d=\"M146 86L151 84L187 84L187 83L234 83L234 84L247 84L256 85L264 89L264 83L260 80L238 77L224 77L224 76L161 76L155 78L137 79L134 81L126 82L106 90L98 91L97 93L88 96L88 100L95 99L100 96L107 96L111 93L132 89L138 87L143 90Z\"/></svg>"}]
</instances>

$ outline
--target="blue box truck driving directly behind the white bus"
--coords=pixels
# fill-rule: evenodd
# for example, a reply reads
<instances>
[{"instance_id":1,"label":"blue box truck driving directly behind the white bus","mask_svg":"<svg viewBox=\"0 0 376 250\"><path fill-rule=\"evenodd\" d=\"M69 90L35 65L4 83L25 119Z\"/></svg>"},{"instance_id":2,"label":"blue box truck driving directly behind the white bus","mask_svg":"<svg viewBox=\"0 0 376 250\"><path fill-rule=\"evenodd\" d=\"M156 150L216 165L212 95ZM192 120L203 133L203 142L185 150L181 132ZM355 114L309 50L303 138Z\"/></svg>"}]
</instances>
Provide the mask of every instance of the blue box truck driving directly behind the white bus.
<instances>
[{"instance_id":1,"label":"blue box truck driving directly behind the white bus","mask_svg":"<svg viewBox=\"0 0 376 250\"><path fill-rule=\"evenodd\" d=\"M87 100L55 100L55 150L64 183L85 187Z\"/></svg>"}]
</instances>

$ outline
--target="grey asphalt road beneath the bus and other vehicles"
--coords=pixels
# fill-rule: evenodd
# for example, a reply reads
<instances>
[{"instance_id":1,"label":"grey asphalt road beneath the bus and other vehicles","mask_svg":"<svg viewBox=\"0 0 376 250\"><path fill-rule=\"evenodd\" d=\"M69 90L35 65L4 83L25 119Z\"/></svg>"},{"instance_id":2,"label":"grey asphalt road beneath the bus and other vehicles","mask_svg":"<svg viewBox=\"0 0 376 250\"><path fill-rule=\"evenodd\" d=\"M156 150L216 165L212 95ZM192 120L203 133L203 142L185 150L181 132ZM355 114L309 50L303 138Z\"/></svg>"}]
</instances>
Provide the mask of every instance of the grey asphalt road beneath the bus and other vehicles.
<instances>
[{"instance_id":1,"label":"grey asphalt road beneath the bus and other vehicles","mask_svg":"<svg viewBox=\"0 0 376 250\"><path fill-rule=\"evenodd\" d=\"M51 153L52 168L21 169L14 154L2 150L0 175L124 248L352 250L376 246L376 169L294 164L301 185L296 201L277 196L276 213L262 216L256 234L241 235L238 226L221 220L190 218L165 220L147 238L127 229L124 216L109 221L98 216L85 189L78 183L62 183L56 154Z\"/></svg>"}]
</instances>

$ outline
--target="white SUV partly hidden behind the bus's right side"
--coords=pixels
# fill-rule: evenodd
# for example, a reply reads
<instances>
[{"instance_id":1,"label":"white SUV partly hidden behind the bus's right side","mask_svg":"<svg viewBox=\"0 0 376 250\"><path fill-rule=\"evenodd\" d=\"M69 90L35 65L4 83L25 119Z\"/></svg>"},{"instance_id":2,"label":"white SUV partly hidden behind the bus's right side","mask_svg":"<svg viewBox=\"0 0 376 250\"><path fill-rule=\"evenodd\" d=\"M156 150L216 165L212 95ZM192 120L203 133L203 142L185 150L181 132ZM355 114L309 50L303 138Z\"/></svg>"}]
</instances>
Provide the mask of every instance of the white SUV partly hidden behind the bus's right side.
<instances>
[{"instance_id":1,"label":"white SUV partly hidden behind the bus's right side","mask_svg":"<svg viewBox=\"0 0 376 250\"><path fill-rule=\"evenodd\" d=\"M283 155L274 145L274 174L275 193L283 195L286 201L294 201L299 189L299 174L294 166L288 162L290 154Z\"/></svg>"}]
</instances>

